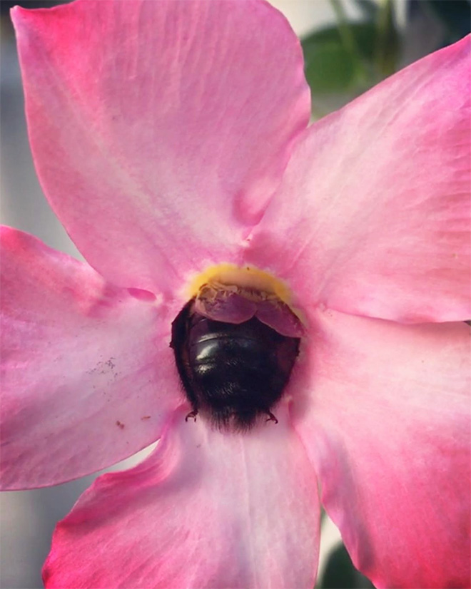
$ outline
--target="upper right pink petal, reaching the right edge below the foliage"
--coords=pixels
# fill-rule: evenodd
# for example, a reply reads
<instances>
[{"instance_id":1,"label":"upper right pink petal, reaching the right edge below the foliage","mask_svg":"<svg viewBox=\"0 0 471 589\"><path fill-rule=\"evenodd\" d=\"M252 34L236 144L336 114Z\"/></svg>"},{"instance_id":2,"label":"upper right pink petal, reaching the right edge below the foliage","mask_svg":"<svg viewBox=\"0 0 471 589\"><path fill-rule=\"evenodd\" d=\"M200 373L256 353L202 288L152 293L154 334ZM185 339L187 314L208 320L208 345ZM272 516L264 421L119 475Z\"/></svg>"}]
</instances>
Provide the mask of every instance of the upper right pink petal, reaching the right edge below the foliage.
<instances>
[{"instance_id":1,"label":"upper right pink petal, reaching the right edge below the foliage","mask_svg":"<svg viewBox=\"0 0 471 589\"><path fill-rule=\"evenodd\" d=\"M469 319L470 72L467 37L312 126L246 261L304 304Z\"/></svg>"}]
</instances>

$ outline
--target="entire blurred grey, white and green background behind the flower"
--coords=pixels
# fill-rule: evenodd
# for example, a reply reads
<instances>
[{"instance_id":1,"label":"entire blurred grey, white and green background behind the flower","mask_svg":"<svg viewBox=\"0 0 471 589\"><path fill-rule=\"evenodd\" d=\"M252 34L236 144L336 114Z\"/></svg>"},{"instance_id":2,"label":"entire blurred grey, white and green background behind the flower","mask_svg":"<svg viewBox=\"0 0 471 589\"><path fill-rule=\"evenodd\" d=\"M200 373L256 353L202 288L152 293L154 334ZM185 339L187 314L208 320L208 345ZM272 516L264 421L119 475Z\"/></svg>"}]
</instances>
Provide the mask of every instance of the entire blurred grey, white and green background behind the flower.
<instances>
[{"instance_id":1,"label":"entire blurred grey, white and green background behind the flower","mask_svg":"<svg viewBox=\"0 0 471 589\"><path fill-rule=\"evenodd\" d=\"M80 257L47 205L31 160L9 9L54 1L0 0L1 222ZM381 79L470 32L469 0L273 0L303 43L313 119L340 108ZM113 470L131 466L143 451ZM95 476L55 488L0 496L0 588L41 588L41 566L56 521ZM369 588L351 565L333 523L323 519L318 587Z\"/></svg>"}]
</instances>

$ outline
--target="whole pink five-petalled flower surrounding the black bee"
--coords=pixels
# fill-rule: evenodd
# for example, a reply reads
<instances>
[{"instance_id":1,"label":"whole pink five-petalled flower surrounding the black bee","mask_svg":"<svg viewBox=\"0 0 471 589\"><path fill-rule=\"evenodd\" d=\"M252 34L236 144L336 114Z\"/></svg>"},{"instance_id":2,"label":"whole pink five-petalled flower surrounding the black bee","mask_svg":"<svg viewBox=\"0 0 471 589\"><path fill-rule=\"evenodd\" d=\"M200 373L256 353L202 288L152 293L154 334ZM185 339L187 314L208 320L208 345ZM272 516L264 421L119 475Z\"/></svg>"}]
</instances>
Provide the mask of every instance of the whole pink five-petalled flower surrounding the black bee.
<instances>
[{"instance_id":1,"label":"whole pink five-petalled flower surrounding the black bee","mask_svg":"<svg viewBox=\"0 0 471 589\"><path fill-rule=\"evenodd\" d=\"M307 127L262 1L13 14L39 178L89 265L1 232L3 488L161 440L59 523L46 585L310 588L321 500L378 587L467 586L470 39ZM279 423L243 434L185 421L169 347L222 262L305 320Z\"/></svg>"}]
</instances>

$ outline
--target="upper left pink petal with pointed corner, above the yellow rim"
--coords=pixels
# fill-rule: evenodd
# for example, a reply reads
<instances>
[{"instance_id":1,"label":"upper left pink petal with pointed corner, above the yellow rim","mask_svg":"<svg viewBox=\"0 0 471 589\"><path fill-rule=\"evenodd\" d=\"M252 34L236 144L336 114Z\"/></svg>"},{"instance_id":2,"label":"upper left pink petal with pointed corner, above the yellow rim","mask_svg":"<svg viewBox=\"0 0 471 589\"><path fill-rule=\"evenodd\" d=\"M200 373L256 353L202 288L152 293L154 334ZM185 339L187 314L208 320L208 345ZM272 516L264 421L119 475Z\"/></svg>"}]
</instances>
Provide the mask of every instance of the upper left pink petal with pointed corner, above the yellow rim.
<instances>
[{"instance_id":1,"label":"upper left pink petal with pointed corner, above the yellow rim","mask_svg":"<svg viewBox=\"0 0 471 589\"><path fill-rule=\"evenodd\" d=\"M260 1L13 12L41 185L86 259L173 294L236 262L309 120L298 39Z\"/></svg>"}]
</instances>

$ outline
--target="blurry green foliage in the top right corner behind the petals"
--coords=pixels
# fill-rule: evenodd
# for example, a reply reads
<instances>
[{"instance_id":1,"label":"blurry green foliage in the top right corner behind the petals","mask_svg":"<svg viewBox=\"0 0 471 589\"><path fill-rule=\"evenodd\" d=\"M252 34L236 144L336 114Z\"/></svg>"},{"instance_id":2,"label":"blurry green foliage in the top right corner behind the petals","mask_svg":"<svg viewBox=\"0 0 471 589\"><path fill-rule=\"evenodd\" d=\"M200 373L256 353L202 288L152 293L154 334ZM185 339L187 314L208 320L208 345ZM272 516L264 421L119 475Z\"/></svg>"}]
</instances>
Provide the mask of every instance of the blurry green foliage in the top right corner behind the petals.
<instances>
[{"instance_id":1,"label":"blurry green foliage in the top right corner behind the petals","mask_svg":"<svg viewBox=\"0 0 471 589\"><path fill-rule=\"evenodd\" d=\"M360 9L361 21L349 21L343 1L330 0L337 24L301 40L315 118L343 106L400 69L407 26L417 19L432 17L440 22L443 34L435 49L461 39L471 29L470 0L410 0L403 30L395 21L394 0L353 1Z\"/></svg>"}]
</instances>

